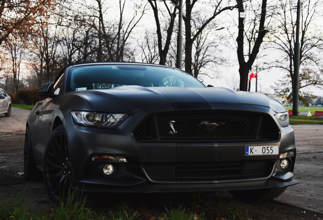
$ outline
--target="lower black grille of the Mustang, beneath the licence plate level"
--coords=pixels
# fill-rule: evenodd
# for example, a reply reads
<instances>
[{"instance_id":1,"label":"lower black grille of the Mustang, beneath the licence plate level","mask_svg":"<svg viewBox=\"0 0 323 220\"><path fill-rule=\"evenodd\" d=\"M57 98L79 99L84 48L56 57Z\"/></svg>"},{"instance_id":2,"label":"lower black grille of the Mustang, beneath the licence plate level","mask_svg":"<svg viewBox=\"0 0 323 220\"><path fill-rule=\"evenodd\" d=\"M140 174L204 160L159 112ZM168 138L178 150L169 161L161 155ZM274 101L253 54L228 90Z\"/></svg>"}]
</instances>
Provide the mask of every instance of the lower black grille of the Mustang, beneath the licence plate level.
<instances>
[{"instance_id":1,"label":"lower black grille of the Mustang, beneath the licence plate level","mask_svg":"<svg viewBox=\"0 0 323 220\"><path fill-rule=\"evenodd\" d=\"M218 163L144 164L155 181L234 181L270 176L275 160Z\"/></svg>"}]
</instances>

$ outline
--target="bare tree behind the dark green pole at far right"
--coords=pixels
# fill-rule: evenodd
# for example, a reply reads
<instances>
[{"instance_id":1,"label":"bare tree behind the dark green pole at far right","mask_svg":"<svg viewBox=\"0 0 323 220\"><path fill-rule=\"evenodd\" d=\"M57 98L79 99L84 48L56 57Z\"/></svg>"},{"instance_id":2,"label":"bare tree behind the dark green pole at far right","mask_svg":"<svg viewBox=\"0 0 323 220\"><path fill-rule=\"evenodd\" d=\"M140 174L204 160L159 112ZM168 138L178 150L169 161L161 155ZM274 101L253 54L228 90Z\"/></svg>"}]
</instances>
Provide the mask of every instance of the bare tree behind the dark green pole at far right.
<instances>
[{"instance_id":1,"label":"bare tree behind the dark green pole at far right","mask_svg":"<svg viewBox=\"0 0 323 220\"><path fill-rule=\"evenodd\" d=\"M295 2L291 0L279 0L280 11L276 15L277 25L274 26L272 43L278 49L279 54L270 67L279 68L287 75L276 84L276 92L284 95L288 101L292 101L294 88L294 48L296 43L296 22ZM323 49L322 31L315 25L319 13L323 9L323 3L319 0L302 1L301 4L301 25L300 25L300 74L299 89L309 86L321 87L323 85ZM300 101L308 104L307 92L299 94Z\"/></svg>"}]
</instances>

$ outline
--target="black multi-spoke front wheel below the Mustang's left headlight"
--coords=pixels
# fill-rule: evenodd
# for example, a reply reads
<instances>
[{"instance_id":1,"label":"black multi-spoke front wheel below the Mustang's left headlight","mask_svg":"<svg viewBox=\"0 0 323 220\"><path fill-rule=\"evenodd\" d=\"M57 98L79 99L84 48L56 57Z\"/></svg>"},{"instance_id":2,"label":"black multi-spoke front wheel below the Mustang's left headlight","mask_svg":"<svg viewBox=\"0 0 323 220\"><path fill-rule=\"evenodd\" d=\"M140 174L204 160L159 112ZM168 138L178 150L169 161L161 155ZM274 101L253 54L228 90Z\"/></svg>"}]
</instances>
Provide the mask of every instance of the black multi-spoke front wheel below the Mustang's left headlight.
<instances>
[{"instance_id":1,"label":"black multi-spoke front wheel below the Mustang's left headlight","mask_svg":"<svg viewBox=\"0 0 323 220\"><path fill-rule=\"evenodd\" d=\"M72 173L66 131L63 125L53 130L44 157L44 183L48 197L54 203L77 201L81 192L72 189Z\"/></svg>"}]
</instances>

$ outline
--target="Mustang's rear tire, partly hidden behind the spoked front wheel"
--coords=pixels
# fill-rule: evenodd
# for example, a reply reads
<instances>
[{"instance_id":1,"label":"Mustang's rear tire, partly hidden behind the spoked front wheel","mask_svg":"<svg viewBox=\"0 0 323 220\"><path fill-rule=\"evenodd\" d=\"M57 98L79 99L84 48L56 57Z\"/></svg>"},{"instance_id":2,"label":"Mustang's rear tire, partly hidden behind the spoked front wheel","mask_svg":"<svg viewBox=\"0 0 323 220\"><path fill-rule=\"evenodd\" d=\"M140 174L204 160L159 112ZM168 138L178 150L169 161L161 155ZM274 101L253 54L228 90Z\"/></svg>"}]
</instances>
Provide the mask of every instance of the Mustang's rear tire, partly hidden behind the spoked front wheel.
<instances>
[{"instance_id":1,"label":"Mustang's rear tire, partly hidden behind the spoked front wheel","mask_svg":"<svg viewBox=\"0 0 323 220\"><path fill-rule=\"evenodd\" d=\"M24 178L30 180L42 180L42 172L36 167L36 161L33 153L33 146L31 146L29 127L26 128L25 144L23 152L23 171Z\"/></svg>"}]
</instances>

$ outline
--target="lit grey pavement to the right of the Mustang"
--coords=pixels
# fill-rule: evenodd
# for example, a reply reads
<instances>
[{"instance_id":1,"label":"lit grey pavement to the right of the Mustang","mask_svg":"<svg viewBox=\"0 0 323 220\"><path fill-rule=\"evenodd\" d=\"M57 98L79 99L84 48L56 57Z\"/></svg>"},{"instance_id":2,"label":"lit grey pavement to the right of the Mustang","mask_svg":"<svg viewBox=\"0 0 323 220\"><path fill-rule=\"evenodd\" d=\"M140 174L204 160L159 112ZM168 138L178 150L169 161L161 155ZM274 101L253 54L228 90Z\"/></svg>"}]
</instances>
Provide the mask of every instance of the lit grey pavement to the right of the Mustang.
<instances>
[{"instance_id":1,"label":"lit grey pavement to the right of the Mustang","mask_svg":"<svg viewBox=\"0 0 323 220\"><path fill-rule=\"evenodd\" d=\"M276 200L323 213L323 125L292 125L297 148L295 179Z\"/></svg>"}]
</instances>

